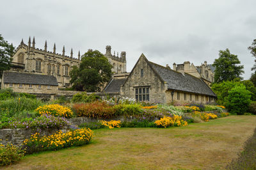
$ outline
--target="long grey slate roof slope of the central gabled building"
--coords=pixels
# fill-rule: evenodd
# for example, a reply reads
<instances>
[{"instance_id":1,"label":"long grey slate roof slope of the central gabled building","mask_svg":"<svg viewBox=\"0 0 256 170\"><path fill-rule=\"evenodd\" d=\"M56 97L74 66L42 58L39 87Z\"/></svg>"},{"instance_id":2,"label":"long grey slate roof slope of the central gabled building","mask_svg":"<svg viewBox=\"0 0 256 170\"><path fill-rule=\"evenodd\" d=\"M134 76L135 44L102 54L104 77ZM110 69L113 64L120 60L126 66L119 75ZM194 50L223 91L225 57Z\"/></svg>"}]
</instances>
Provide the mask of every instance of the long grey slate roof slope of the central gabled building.
<instances>
[{"instance_id":1,"label":"long grey slate roof slope of the central gabled building","mask_svg":"<svg viewBox=\"0 0 256 170\"><path fill-rule=\"evenodd\" d=\"M203 95L210 95L216 97L215 93L205 84L202 79L194 77L189 73L175 72L170 68L166 68L156 63L148 61L156 73L168 83L168 89L175 89L179 91L187 91L190 93L198 93Z\"/></svg>"}]
</instances>

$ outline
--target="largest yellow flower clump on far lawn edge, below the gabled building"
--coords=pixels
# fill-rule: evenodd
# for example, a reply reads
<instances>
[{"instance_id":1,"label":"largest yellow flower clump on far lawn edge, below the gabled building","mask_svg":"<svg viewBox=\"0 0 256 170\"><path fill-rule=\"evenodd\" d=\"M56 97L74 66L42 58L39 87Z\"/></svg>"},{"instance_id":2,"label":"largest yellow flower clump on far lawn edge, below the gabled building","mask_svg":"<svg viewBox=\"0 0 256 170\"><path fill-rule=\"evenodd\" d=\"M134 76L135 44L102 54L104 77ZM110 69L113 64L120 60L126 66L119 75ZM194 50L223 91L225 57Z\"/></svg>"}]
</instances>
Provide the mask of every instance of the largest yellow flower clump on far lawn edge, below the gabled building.
<instances>
[{"instance_id":1,"label":"largest yellow flower clump on far lawn edge, below the gabled building","mask_svg":"<svg viewBox=\"0 0 256 170\"><path fill-rule=\"evenodd\" d=\"M183 127L188 125L188 122L184 121L182 119L182 116L173 115L172 117L164 116L164 118L161 118L160 120L156 120L155 124L157 125L157 127L161 127L161 128L166 128L170 126Z\"/></svg>"}]
</instances>

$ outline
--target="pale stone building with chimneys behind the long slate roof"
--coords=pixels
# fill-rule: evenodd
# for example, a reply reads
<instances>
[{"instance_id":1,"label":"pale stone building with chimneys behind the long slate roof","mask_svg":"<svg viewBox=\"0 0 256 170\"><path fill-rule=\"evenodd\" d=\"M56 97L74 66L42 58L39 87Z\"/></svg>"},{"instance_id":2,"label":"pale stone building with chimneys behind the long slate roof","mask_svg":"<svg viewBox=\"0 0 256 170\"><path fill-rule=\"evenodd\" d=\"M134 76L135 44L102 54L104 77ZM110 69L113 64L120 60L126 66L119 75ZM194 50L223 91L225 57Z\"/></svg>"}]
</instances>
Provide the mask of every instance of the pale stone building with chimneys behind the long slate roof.
<instances>
[{"instance_id":1,"label":"pale stone building with chimneys behind the long slate roof","mask_svg":"<svg viewBox=\"0 0 256 170\"><path fill-rule=\"evenodd\" d=\"M204 61L200 66L195 66L189 61L185 61L183 64L176 65L173 63L173 70L180 73L189 73L195 77L202 78L205 83L210 85L214 82L214 66L207 65L207 61Z\"/></svg>"}]
</instances>

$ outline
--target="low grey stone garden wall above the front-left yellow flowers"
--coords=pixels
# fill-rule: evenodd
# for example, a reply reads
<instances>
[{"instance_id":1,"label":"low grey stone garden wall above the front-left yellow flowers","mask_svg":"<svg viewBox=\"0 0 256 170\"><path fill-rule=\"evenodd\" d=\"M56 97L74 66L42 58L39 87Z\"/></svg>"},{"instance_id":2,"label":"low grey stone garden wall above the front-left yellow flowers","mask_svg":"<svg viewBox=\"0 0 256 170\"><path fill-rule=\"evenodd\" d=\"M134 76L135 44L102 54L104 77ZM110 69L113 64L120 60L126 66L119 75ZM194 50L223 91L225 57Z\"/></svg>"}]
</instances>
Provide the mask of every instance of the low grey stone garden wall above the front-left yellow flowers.
<instances>
[{"instance_id":1,"label":"low grey stone garden wall above the front-left yellow flowers","mask_svg":"<svg viewBox=\"0 0 256 170\"><path fill-rule=\"evenodd\" d=\"M61 129L62 132L67 132L66 129ZM40 134L42 135L51 135L57 132L58 129L44 129L41 130ZM32 129L24 129L24 128L5 128L0 130L0 143L1 144L14 144L17 146L21 146L22 142L25 139L29 139L31 134L35 134L36 130Z\"/></svg>"}]
</instances>

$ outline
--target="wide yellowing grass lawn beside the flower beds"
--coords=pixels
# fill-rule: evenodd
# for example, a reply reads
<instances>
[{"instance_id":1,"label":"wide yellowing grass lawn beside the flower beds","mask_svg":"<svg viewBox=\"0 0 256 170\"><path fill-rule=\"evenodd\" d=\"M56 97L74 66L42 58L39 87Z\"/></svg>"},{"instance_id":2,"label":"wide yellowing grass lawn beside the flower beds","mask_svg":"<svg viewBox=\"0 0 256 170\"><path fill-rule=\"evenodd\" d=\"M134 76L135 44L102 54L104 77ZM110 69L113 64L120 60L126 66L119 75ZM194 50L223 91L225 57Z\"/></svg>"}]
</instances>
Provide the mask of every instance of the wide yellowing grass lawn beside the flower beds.
<instances>
[{"instance_id":1,"label":"wide yellowing grass lawn beside the flower beds","mask_svg":"<svg viewBox=\"0 0 256 170\"><path fill-rule=\"evenodd\" d=\"M7 169L223 169L253 134L256 116L175 128L93 130L92 143L28 155Z\"/></svg>"}]
</instances>

